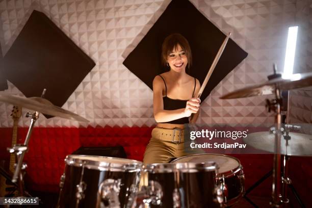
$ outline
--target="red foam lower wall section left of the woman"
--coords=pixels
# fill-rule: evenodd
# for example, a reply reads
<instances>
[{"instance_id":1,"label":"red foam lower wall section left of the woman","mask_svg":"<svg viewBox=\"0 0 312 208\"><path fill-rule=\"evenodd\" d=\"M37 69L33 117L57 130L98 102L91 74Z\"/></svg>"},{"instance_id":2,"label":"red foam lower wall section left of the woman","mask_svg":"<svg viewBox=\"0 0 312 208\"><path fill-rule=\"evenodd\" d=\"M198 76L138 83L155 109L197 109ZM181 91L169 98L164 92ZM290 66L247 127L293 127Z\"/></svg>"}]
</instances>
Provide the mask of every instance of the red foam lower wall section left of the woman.
<instances>
[{"instance_id":1,"label":"red foam lower wall section left of the woman","mask_svg":"<svg viewBox=\"0 0 312 208\"><path fill-rule=\"evenodd\" d=\"M58 192L64 159L81 146L121 145L127 158L142 161L151 130L150 127L34 128L24 159L28 164L28 188ZM24 141L27 131L28 128L18 128L18 143ZM9 160L6 148L11 146L12 128L0 128L0 135L3 141L0 160Z\"/></svg>"}]
</instances>

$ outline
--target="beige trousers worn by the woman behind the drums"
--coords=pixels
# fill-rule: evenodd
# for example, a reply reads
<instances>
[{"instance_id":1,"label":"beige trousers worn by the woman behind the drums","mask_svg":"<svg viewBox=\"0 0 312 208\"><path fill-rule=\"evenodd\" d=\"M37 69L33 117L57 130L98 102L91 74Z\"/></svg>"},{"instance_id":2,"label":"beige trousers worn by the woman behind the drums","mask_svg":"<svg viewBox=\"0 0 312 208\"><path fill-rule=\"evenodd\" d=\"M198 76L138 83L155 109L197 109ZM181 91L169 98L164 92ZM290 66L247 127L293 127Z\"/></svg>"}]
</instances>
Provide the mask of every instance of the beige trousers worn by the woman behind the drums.
<instances>
[{"instance_id":1,"label":"beige trousers worn by the woman behind the drums","mask_svg":"<svg viewBox=\"0 0 312 208\"><path fill-rule=\"evenodd\" d=\"M166 130L168 131L168 129ZM174 158L180 158L187 155L184 152L184 142L174 143L162 140L164 137L162 128L154 128L151 133L151 139L146 147L143 163L169 163ZM168 137L166 139L168 140ZM184 141L184 134L181 135L181 141Z\"/></svg>"}]
</instances>

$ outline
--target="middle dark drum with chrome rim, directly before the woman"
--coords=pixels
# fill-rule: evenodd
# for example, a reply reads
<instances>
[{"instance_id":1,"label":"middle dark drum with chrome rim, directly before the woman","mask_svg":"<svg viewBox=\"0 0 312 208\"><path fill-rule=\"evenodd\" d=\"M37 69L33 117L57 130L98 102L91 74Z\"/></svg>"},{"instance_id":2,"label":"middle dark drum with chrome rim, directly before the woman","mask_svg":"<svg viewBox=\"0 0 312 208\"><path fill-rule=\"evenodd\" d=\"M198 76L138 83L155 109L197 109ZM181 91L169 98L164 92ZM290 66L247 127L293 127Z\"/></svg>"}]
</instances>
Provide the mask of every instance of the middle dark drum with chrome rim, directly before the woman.
<instances>
[{"instance_id":1,"label":"middle dark drum with chrome rim, directly before the woman","mask_svg":"<svg viewBox=\"0 0 312 208\"><path fill-rule=\"evenodd\" d=\"M151 207L220 207L223 193L216 185L216 170L216 163L148 164L144 172L152 197L145 201Z\"/></svg>"}]
</instances>

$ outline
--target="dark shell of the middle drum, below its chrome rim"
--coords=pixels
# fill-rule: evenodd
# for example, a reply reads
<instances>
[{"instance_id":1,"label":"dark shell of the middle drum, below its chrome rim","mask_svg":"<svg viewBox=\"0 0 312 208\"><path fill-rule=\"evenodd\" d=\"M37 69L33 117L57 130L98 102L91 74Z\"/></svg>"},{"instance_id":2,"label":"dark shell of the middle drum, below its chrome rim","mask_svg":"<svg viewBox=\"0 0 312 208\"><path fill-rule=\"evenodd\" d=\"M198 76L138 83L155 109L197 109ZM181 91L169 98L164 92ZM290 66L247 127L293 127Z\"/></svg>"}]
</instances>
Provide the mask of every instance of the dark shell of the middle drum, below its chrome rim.
<instances>
[{"instance_id":1,"label":"dark shell of the middle drum, below its chrome rim","mask_svg":"<svg viewBox=\"0 0 312 208\"><path fill-rule=\"evenodd\" d=\"M175 176L176 175L176 176ZM178 185L175 183L178 177ZM216 198L215 171L148 173L148 180L162 186L162 204L151 207L173 207L173 193L179 190L181 207L220 207Z\"/></svg>"}]
</instances>

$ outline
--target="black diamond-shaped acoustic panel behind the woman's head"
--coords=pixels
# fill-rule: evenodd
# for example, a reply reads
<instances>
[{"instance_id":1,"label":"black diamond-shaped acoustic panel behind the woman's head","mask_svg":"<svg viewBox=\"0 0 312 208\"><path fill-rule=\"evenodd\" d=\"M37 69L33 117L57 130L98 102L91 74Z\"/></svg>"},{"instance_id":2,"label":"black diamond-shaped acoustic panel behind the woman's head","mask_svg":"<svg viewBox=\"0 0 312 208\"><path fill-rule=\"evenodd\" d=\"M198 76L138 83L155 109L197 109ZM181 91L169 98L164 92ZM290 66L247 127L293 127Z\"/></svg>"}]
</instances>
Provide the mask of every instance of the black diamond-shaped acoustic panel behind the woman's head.
<instances>
[{"instance_id":1,"label":"black diamond-shaped acoustic panel behind the woman's head","mask_svg":"<svg viewBox=\"0 0 312 208\"><path fill-rule=\"evenodd\" d=\"M180 33L189 41L193 56L190 74L201 83L226 37L189 1L173 0L123 62L125 67L136 74L151 89L154 76L168 70L161 66L161 45L165 37L172 33ZM201 95L201 100L204 100L247 55L240 46L229 39L211 79Z\"/></svg>"}]
</instances>

